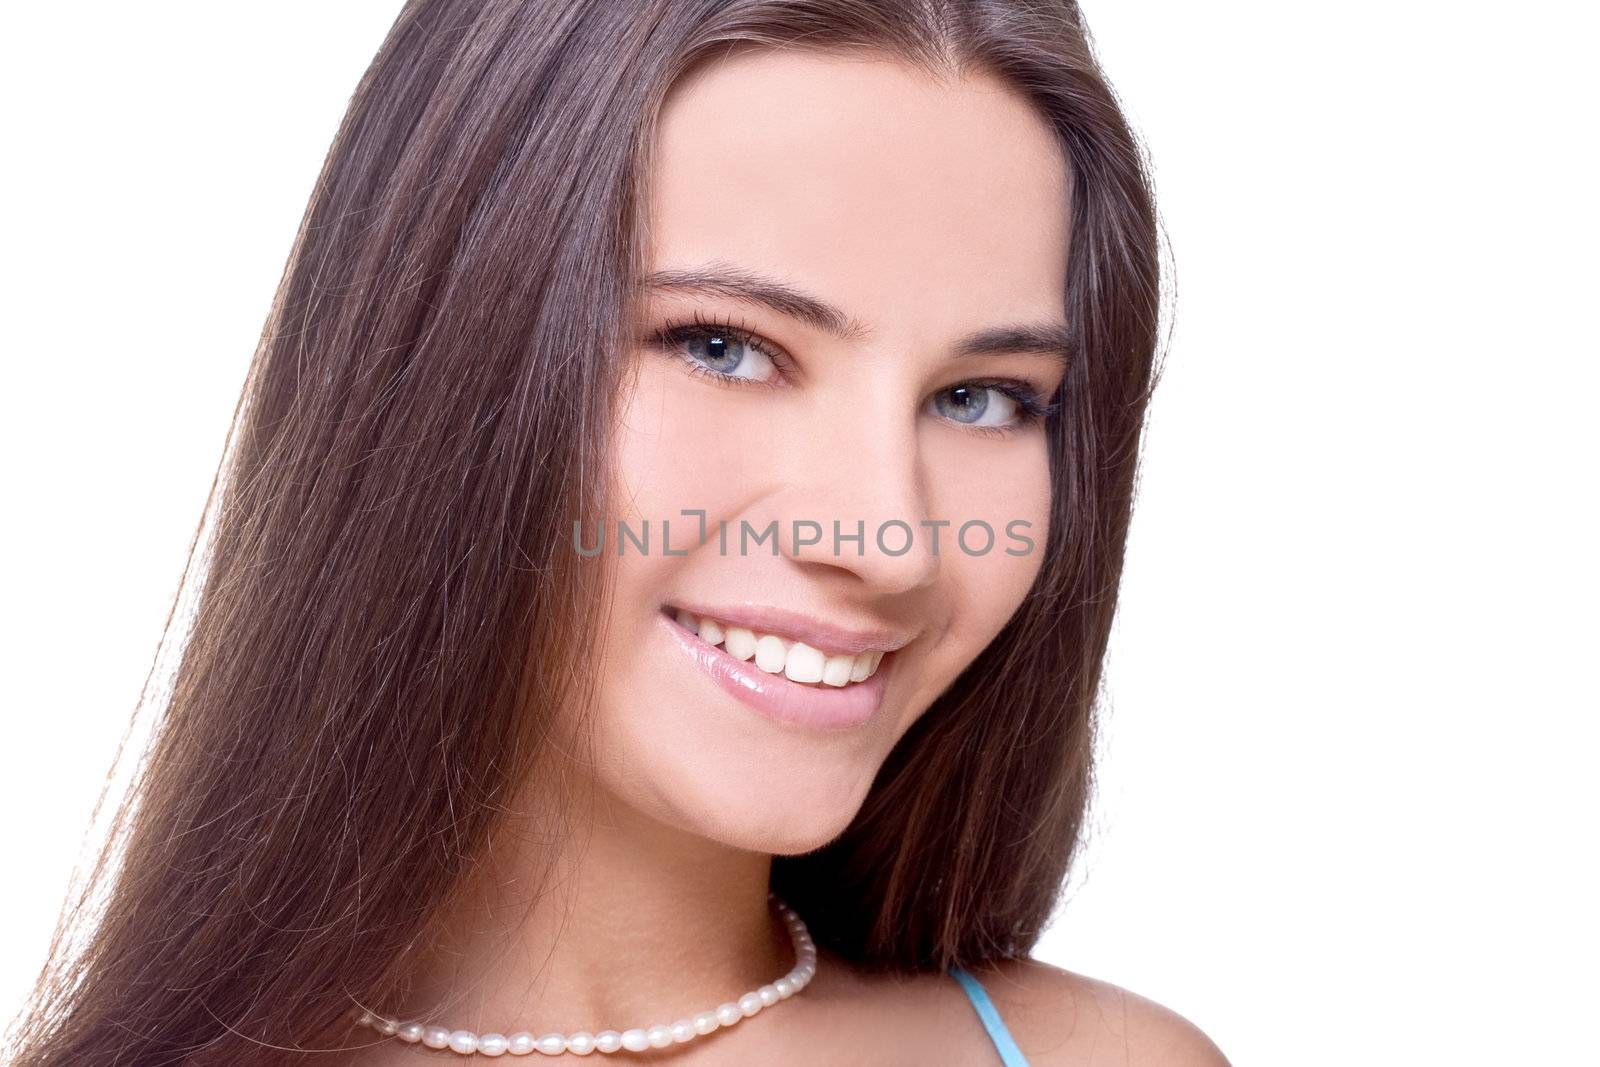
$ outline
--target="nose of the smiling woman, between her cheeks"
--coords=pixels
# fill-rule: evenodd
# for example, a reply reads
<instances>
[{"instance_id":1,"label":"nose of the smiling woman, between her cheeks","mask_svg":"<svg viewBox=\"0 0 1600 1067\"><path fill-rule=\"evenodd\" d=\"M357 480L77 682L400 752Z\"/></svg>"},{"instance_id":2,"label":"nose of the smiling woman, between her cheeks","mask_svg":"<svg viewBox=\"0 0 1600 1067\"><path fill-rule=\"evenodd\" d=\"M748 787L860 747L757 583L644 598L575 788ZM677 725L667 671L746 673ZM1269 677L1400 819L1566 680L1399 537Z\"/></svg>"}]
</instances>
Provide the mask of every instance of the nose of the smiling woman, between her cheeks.
<instances>
[{"instance_id":1,"label":"nose of the smiling woman, between her cheeks","mask_svg":"<svg viewBox=\"0 0 1600 1067\"><path fill-rule=\"evenodd\" d=\"M784 555L885 595L933 582L950 541L949 530L926 525L934 517L917 422L898 406L835 414L800 437L781 520Z\"/></svg>"}]
</instances>

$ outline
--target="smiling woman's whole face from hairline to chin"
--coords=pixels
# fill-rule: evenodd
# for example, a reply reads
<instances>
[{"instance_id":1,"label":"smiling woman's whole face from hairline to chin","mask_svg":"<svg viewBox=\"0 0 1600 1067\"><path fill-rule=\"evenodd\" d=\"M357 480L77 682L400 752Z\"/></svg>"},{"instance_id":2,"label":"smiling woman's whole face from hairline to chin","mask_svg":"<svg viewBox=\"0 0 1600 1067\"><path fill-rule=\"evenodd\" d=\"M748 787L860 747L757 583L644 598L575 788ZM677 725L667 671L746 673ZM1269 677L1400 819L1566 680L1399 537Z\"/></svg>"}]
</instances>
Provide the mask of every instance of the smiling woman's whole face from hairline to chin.
<instances>
[{"instance_id":1,"label":"smiling woman's whole face from hairline to chin","mask_svg":"<svg viewBox=\"0 0 1600 1067\"><path fill-rule=\"evenodd\" d=\"M816 54L699 69L658 150L595 771L693 833L810 851L1038 571L1069 173L998 82Z\"/></svg>"}]
</instances>

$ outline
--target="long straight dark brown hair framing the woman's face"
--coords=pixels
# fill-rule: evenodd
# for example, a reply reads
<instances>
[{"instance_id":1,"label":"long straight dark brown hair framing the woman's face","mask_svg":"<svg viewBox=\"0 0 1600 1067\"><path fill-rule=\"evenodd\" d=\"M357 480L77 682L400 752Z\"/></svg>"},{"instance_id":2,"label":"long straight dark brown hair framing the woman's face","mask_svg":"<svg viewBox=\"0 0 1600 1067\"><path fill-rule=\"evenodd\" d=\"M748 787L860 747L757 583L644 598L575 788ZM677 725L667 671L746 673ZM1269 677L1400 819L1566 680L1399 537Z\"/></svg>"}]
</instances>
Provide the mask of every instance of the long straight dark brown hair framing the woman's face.
<instances>
[{"instance_id":1,"label":"long straight dark brown hair framing the woman's face","mask_svg":"<svg viewBox=\"0 0 1600 1067\"><path fill-rule=\"evenodd\" d=\"M1162 291L1147 163L1077 6L411 0L306 210L190 547L192 622L168 617L171 681L141 694L152 742L19 1067L285 1062L394 1003L555 709L590 694L574 635L606 582L566 531L605 514L654 117L736 48L998 75L1070 165L1038 579L850 829L773 875L867 968L1030 950L1090 797Z\"/></svg>"}]
</instances>

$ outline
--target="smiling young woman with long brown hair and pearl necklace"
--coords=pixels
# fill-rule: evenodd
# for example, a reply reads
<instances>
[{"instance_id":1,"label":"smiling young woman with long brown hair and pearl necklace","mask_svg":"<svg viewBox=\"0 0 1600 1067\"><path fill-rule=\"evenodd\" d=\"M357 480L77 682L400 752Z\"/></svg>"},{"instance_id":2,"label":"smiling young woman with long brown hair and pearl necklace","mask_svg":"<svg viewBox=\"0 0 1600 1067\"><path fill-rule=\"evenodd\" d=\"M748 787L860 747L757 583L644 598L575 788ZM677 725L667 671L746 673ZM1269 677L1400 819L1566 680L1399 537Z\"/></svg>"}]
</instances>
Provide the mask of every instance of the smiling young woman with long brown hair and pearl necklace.
<instances>
[{"instance_id":1,"label":"smiling young woman with long brown hair and pearl necklace","mask_svg":"<svg viewBox=\"0 0 1600 1067\"><path fill-rule=\"evenodd\" d=\"M16 1062L1224 1064L1029 958L1158 282L1069 3L408 3Z\"/></svg>"}]
</instances>

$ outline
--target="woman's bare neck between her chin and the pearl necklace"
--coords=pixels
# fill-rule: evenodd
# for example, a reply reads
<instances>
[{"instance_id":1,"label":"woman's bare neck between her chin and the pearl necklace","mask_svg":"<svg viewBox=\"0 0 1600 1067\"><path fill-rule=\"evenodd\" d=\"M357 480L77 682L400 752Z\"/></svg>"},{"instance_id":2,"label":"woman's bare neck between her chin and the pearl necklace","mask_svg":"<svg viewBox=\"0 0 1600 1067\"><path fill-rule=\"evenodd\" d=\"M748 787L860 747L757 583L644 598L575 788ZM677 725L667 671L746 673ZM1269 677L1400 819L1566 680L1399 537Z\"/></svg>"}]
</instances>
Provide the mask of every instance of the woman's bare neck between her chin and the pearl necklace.
<instances>
[{"instance_id":1,"label":"woman's bare neck between her chin and the pearl necklace","mask_svg":"<svg viewBox=\"0 0 1600 1067\"><path fill-rule=\"evenodd\" d=\"M478 1032L597 1033L714 1009L792 966L766 899L770 854L598 789L555 840L536 811L510 816L446 905L395 1011Z\"/></svg>"}]
</instances>

